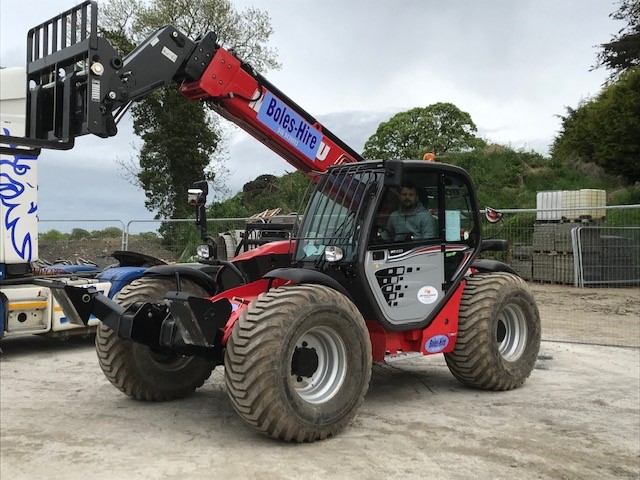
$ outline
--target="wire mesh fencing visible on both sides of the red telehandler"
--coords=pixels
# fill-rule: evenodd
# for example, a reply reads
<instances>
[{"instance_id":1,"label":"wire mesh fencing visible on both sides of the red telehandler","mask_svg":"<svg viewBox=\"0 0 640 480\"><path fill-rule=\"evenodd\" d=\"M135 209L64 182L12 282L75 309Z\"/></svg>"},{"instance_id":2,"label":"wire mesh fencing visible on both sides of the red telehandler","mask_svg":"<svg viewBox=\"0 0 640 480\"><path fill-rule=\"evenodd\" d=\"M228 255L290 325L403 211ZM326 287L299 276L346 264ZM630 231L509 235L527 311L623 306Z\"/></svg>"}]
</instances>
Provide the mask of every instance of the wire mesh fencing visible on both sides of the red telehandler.
<instances>
[{"instance_id":1,"label":"wire mesh fencing visible on both sides of the red telehandler","mask_svg":"<svg viewBox=\"0 0 640 480\"><path fill-rule=\"evenodd\" d=\"M510 248L483 256L508 263L530 282L544 340L640 347L640 205L598 207L595 216L584 213L501 210L497 223L485 220L483 233L485 238L508 240ZM247 225L260 221L208 220L207 233L216 239L218 256L232 258L250 231ZM46 257L49 251L68 252L67 258L86 258L101 267L115 262L110 253L120 249L167 262L193 261L197 245L203 243L193 219L132 220L126 225L120 220L40 223L41 258L55 260ZM282 239L285 230L291 231L276 224L252 237L251 245Z\"/></svg>"}]
</instances>

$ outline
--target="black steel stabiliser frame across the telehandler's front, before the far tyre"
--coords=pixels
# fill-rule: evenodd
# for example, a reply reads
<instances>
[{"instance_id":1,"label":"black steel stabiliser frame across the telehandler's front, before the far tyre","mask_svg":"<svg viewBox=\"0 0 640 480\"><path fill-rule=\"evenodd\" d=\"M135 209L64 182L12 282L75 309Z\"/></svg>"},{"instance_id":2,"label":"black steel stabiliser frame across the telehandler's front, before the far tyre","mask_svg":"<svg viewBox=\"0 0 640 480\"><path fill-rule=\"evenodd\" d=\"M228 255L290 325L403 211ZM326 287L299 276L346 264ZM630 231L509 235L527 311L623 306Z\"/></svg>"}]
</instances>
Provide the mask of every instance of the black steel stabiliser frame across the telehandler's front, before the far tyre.
<instances>
[{"instance_id":1,"label":"black steel stabiliser frame across the telehandler's front, before the far tyre","mask_svg":"<svg viewBox=\"0 0 640 480\"><path fill-rule=\"evenodd\" d=\"M218 358L221 328L231 315L227 299L215 302L186 292L167 292L160 303L123 307L95 287L75 287L59 280L36 280L49 287L69 321L87 325L92 315L119 337L183 355Z\"/></svg>"}]
</instances>

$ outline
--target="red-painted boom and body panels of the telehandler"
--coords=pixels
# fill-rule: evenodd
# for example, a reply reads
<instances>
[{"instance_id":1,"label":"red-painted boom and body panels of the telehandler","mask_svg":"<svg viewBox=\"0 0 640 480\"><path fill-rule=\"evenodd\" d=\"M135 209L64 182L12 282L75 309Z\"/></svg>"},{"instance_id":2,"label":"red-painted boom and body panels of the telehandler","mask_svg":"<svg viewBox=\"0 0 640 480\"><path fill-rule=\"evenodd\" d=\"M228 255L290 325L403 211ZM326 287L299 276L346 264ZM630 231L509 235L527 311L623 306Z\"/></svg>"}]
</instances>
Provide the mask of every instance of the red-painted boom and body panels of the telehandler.
<instances>
[{"instance_id":1,"label":"red-painted boom and body panels of the telehandler","mask_svg":"<svg viewBox=\"0 0 640 480\"><path fill-rule=\"evenodd\" d=\"M267 92L278 97L293 111L301 114L304 112L301 112L297 105L291 104L290 100L284 95L279 94L277 91L269 90L271 88L275 89L275 87L267 87L265 83L269 85L268 82L263 82L259 77L246 71L235 55L224 48L218 48L204 74L196 81L183 84L180 87L180 92L191 100L210 102L220 115L240 126L314 180L317 179L318 173L325 172L332 165L362 160L348 147L337 143L339 140L334 141L325 135L323 126L317 121L311 122L312 128L322 134L322 142L316 158L313 159L302 155L293 145L274 133L257 118L262 99ZM306 118L309 117L307 116ZM333 138L335 139L335 137ZM242 253L234 259L234 262L252 260L271 254L291 254L294 247L295 243L291 241L273 242ZM440 246L431 248L439 250ZM290 283L285 280L273 279L271 280L271 288ZM391 332L386 331L376 321L367 321L373 360L384 361L385 355L393 356L406 352L430 354L453 350L458 333L458 311L464 285L465 282L463 281L431 325L424 330ZM214 301L226 298L233 307L233 312L223 329L223 347L229 339L233 325L242 312L246 310L252 300L255 300L261 293L265 292L268 286L269 280L257 280L247 285L227 290L211 298ZM446 337L446 341L444 337ZM431 351L428 351L426 344L430 339L434 339L436 348L430 348ZM446 345L443 348L437 347L439 344L436 340Z\"/></svg>"}]
</instances>

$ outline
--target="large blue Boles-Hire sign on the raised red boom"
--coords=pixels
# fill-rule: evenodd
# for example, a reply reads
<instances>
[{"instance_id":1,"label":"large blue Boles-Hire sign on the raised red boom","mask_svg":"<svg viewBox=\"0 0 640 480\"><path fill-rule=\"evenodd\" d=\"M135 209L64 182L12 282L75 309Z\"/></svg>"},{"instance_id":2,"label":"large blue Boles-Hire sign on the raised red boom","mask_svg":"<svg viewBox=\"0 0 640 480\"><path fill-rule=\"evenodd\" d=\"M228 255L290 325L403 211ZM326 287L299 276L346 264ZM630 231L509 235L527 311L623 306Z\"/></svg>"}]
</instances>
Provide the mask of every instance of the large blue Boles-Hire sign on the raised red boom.
<instances>
[{"instance_id":1,"label":"large blue Boles-Hire sign on the raised red boom","mask_svg":"<svg viewBox=\"0 0 640 480\"><path fill-rule=\"evenodd\" d=\"M258 120L311 160L316 158L322 134L271 92L264 96Z\"/></svg>"}]
</instances>

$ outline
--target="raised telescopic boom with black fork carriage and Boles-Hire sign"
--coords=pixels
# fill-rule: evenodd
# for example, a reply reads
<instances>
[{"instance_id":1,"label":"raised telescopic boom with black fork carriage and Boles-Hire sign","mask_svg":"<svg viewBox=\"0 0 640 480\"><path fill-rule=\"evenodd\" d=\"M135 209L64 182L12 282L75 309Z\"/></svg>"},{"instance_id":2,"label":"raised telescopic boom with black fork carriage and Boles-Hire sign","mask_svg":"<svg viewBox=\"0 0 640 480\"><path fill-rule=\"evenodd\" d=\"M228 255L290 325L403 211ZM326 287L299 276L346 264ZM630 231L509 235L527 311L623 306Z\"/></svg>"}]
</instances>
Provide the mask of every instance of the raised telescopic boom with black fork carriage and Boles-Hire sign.
<instances>
[{"instance_id":1,"label":"raised telescopic boom with black fork carriage and Boles-Hire sign","mask_svg":"<svg viewBox=\"0 0 640 480\"><path fill-rule=\"evenodd\" d=\"M96 20L97 4L87 1L29 31L27 138L3 143L68 149L81 135L113 136L131 102L178 82L187 98L206 102L308 176L362 160L215 33L194 42L165 26L121 59L97 36Z\"/></svg>"}]
</instances>

